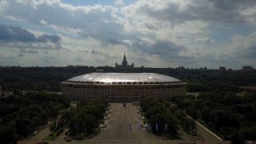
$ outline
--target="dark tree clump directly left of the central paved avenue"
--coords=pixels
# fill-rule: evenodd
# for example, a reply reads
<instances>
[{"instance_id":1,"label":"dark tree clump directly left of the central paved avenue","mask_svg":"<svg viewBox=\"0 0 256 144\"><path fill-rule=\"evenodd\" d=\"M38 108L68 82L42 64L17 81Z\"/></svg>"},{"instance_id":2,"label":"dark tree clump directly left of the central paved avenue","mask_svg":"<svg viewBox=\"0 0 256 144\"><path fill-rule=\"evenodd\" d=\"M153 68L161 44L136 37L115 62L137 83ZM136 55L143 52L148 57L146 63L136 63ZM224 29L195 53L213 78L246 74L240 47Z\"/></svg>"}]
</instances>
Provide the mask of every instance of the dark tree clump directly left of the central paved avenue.
<instances>
[{"instance_id":1,"label":"dark tree clump directly left of the central paved avenue","mask_svg":"<svg viewBox=\"0 0 256 144\"><path fill-rule=\"evenodd\" d=\"M94 134L108 109L105 99L78 102L76 106L62 111L58 122L54 123L51 130L57 131L68 127L70 136L83 138L88 134Z\"/></svg>"}]
</instances>

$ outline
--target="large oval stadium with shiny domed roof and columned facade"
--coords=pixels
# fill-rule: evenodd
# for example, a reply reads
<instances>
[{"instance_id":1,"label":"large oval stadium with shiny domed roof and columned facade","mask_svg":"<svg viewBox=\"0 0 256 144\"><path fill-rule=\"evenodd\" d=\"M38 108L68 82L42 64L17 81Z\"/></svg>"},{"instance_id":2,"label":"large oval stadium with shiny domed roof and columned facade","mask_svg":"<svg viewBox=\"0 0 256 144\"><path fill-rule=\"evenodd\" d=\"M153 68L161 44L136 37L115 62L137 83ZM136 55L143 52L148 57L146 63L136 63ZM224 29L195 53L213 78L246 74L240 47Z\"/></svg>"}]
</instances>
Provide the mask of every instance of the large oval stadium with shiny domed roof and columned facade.
<instances>
[{"instance_id":1,"label":"large oval stadium with shiny domed roof and columned facade","mask_svg":"<svg viewBox=\"0 0 256 144\"><path fill-rule=\"evenodd\" d=\"M73 99L106 98L138 102L142 98L170 99L186 94L186 82L154 73L90 73L61 82L62 94Z\"/></svg>"}]
</instances>

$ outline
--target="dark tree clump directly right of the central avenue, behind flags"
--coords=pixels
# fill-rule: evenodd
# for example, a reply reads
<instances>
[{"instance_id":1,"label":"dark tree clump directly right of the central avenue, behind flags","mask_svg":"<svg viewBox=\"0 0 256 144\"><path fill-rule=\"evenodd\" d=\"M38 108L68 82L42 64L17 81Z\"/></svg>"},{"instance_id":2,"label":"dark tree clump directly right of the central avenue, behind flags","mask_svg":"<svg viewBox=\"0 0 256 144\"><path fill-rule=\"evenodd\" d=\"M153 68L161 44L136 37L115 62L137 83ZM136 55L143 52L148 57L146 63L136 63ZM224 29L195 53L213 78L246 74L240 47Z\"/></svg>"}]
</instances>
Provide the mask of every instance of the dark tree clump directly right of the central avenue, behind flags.
<instances>
[{"instance_id":1,"label":"dark tree clump directly right of the central avenue, behind flags","mask_svg":"<svg viewBox=\"0 0 256 144\"><path fill-rule=\"evenodd\" d=\"M154 134L167 134L174 138L178 135L180 127L190 134L195 134L194 120L188 118L177 107L170 106L170 102L152 98L142 99L141 108Z\"/></svg>"}]
</instances>

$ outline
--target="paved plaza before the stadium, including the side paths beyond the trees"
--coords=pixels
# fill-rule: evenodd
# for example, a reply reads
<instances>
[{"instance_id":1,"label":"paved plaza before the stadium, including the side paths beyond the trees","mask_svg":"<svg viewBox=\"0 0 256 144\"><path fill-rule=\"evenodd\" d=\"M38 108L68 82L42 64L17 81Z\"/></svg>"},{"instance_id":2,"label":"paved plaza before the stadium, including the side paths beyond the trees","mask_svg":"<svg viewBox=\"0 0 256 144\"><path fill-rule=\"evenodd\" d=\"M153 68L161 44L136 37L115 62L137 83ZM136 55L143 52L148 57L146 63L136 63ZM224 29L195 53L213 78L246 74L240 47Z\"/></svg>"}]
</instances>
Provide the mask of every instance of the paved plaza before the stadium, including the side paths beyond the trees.
<instances>
[{"instance_id":1,"label":"paved plaza before the stadium, including the side paths beyond the trees","mask_svg":"<svg viewBox=\"0 0 256 144\"><path fill-rule=\"evenodd\" d=\"M141 114L138 114L138 109L131 103L126 104L126 107L122 106L122 103L111 103L113 107L110 114L107 114L108 120L105 121L106 128L103 128L97 136L94 138L86 139L84 141L66 142L62 138L65 136L62 134L60 138L49 143L142 143L142 144L167 144L167 143L193 143L190 139L190 135L181 130L182 140L162 140L154 134L146 132L145 128L138 129L138 125L143 125L142 120L139 118ZM47 130L47 129L46 129ZM47 131L48 132L48 131ZM215 138L208 131L198 126L198 133L204 137L204 142L196 143L221 143L218 138ZM39 134L45 134L44 131ZM19 143L36 143L31 140L38 140L40 135L30 139L30 141ZM46 138L46 137L45 137Z\"/></svg>"}]
</instances>

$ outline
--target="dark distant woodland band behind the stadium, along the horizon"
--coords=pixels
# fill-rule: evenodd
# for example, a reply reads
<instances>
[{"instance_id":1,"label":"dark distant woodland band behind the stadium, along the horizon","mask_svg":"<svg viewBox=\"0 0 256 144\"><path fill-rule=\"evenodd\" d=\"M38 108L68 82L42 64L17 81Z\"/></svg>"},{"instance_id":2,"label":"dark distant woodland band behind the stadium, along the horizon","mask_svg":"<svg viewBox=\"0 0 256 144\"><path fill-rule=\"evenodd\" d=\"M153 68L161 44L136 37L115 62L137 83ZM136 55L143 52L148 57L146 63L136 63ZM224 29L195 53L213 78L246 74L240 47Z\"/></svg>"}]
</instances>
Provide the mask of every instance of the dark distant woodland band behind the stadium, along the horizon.
<instances>
[{"instance_id":1,"label":"dark distant woodland band behind the stadium, along the horizon","mask_svg":"<svg viewBox=\"0 0 256 144\"><path fill-rule=\"evenodd\" d=\"M67 66L67 67L0 67L0 86L3 90L49 90L60 91L59 82L66 81L79 74L87 74L96 70L104 72L122 72L110 66ZM188 85L189 91L209 91L215 89L219 83L234 86L256 85L255 71L219 71L219 70L190 70L172 68L134 68L129 73L158 73L181 79L185 82L194 82ZM210 82L208 84L208 82ZM205 86L206 85L206 86ZM211 88L209 88L209 86Z\"/></svg>"}]
</instances>

